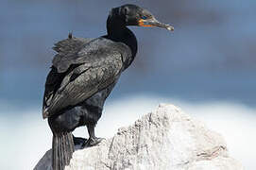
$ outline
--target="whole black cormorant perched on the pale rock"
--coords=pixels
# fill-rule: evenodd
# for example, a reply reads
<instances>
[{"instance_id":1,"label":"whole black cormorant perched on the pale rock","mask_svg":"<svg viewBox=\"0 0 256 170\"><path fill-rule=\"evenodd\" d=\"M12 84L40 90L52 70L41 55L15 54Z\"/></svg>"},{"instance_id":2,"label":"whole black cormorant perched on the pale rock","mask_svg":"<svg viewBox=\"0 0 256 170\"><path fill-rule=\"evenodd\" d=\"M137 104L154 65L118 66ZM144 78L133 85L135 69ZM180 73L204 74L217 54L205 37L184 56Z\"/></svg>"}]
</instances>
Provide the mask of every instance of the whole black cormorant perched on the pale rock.
<instances>
[{"instance_id":1,"label":"whole black cormorant perched on the pale rock","mask_svg":"<svg viewBox=\"0 0 256 170\"><path fill-rule=\"evenodd\" d=\"M43 96L43 118L53 132L52 167L62 170L74 152L72 131L86 126L89 139L83 146L100 143L94 127L103 105L121 73L137 53L137 40L127 26L163 25L144 8L124 5L112 8L107 20L108 34L96 39L75 38L57 42ZM76 138L75 138L76 139Z\"/></svg>"}]
</instances>

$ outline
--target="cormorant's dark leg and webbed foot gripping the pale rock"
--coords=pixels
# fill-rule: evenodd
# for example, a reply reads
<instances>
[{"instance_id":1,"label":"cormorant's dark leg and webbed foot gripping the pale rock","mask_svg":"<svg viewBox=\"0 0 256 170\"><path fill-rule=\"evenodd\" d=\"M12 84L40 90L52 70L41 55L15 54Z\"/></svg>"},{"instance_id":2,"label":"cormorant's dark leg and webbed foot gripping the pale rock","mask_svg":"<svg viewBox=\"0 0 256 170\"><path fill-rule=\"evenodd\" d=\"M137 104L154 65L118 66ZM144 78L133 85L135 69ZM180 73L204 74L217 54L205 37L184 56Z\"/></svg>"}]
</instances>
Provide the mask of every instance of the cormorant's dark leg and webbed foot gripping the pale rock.
<instances>
[{"instance_id":1,"label":"cormorant's dark leg and webbed foot gripping the pale rock","mask_svg":"<svg viewBox=\"0 0 256 170\"><path fill-rule=\"evenodd\" d=\"M92 124L87 126L88 133L89 133L89 139L82 145L83 147L89 147L89 146L99 144L103 140L103 138L95 137L94 127L95 127L95 125L92 125Z\"/></svg>"}]
</instances>

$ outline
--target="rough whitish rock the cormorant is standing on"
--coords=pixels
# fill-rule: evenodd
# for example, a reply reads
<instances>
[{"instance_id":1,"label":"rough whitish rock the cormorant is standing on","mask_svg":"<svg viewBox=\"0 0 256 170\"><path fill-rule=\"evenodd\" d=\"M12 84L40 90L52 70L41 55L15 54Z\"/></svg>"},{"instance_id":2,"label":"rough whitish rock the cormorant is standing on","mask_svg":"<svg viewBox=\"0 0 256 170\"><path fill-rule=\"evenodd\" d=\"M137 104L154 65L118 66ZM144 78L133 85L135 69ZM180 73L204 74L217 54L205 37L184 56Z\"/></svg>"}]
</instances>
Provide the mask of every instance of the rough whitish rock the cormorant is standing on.
<instances>
[{"instance_id":1,"label":"rough whitish rock the cormorant is standing on","mask_svg":"<svg viewBox=\"0 0 256 170\"><path fill-rule=\"evenodd\" d=\"M51 169L47 151L35 170ZM79 149L66 170L241 170L224 139L173 105L162 104L111 139Z\"/></svg>"}]
</instances>

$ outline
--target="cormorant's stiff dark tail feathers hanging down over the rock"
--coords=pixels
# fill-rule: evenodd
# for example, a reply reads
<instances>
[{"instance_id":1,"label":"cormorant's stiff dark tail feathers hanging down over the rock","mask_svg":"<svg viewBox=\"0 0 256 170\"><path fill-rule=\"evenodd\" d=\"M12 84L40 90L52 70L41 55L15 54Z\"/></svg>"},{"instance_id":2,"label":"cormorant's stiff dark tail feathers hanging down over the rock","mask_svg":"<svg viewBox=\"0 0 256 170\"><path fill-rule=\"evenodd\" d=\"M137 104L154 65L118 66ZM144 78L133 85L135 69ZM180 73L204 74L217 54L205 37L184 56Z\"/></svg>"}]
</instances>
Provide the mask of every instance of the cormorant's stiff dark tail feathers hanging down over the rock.
<instances>
[{"instance_id":1,"label":"cormorant's stiff dark tail feathers hanging down over the rock","mask_svg":"<svg viewBox=\"0 0 256 170\"><path fill-rule=\"evenodd\" d=\"M64 170L69 164L75 150L71 132L53 135L52 143L52 167L53 170Z\"/></svg>"}]
</instances>

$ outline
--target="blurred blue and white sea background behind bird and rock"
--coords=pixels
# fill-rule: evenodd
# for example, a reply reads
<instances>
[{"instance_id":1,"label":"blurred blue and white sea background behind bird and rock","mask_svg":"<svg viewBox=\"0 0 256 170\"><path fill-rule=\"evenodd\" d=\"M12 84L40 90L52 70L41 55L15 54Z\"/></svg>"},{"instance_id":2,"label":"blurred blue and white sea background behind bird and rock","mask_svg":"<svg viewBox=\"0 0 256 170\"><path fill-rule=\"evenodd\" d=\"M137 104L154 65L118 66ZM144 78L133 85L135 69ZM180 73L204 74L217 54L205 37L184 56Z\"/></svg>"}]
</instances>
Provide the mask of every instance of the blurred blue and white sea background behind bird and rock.
<instances>
[{"instance_id":1,"label":"blurred blue and white sea background behind bird and rock","mask_svg":"<svg viewBox=\"0 0 256 170\"><path fill-rule=\"evenodd\" d=\"M51 148L42 118L55 42L106 33L111 8L149 9L170 33L130 27L137 58L121 76L96 128L111 137L159 103L172 103L221 133L230 155L254 170L256 1L2 0L0 6L0 169L32 169ZM75 132L87 137L81 127Z\"/></svg>"}]
</instances>

